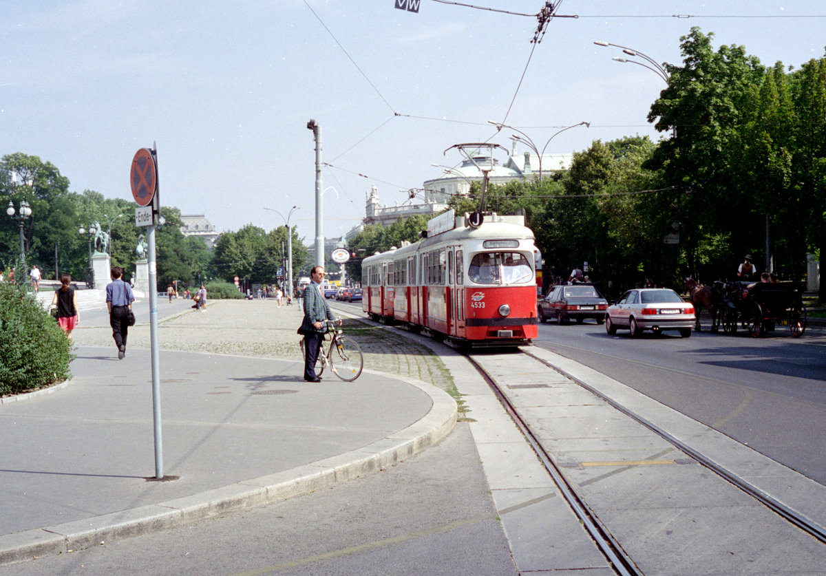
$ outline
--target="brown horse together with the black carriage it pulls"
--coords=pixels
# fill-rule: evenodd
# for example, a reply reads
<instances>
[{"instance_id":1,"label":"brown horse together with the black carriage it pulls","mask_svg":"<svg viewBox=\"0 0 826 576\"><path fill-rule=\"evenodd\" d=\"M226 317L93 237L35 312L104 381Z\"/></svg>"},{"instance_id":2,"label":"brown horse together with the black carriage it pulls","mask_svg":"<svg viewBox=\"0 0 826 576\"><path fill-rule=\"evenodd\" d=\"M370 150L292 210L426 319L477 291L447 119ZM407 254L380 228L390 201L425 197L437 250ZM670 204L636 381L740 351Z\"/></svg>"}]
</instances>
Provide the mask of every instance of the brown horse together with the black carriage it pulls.
<instances>
[{"instance_id":1,"label":"brown horse together with the black carriage it pulls","mask_svg":"<svg viewBox=\"0 0 826 576\"><path fill-rule=\"evenodd\" d=\"M700 309L709 310L711 332L722 326L726 334L737 332L738 323L754 337L765 336L776 325L789 326L795 338L805 332L806 309L800 282L714 282L701 286L686 278L685 291L691 295L700 330Z\"/></svg>"}]
</instances>

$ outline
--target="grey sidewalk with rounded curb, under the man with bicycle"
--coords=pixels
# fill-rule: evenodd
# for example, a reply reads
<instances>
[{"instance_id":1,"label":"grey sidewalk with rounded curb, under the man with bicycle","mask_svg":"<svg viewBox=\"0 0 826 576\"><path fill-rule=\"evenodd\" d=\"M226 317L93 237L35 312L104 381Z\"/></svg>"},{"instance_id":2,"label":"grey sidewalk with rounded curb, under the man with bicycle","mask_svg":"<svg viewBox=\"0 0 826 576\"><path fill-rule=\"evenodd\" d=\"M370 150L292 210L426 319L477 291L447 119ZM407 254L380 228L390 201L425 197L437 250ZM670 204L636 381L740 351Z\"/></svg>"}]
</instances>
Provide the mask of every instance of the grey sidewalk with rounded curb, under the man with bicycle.
<instances>
[{"instance_id":1,"label":"grey sidewalk with rounded curb, under the man with bicycle","mask_svg":"<svg viewBox=\"0 0 826 576\"><path fill-rule=\"evenodd\" d=\"M177 477L163 482L148 327L133 328L122 361L105 325L78 328L72 380L0 405L0 564L308 493L452 430L453 399L417 378L430 372L426 354L384 347L354 382L308 383L299 322L296 307L263 300L211 302L205 313L182 305L161 323L163 472ZM387 372L369 370L377 365Z\"/></svg>"}]
</instances>

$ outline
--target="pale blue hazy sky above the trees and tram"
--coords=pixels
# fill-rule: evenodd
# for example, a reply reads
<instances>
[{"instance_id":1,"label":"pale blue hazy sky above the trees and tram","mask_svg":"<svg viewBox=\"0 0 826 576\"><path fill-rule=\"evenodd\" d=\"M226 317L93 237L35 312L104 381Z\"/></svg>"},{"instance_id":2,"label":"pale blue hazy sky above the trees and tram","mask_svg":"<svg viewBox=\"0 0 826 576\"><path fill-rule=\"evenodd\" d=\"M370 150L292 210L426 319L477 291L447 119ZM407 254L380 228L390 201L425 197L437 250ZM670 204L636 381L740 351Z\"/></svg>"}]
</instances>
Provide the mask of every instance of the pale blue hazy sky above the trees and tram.
<instances>
[{"instance_id":1,"label":"pale blue hazy sky above the trees and tram","mask_svg":"<svg viewBox=\"0 0 826 576\"><path fill-rule=\"evenodd\" d=\"M665 83L596 40L671 64L692 26L767 65L799 68L826 50L822 0L562 0L556 13L577 17L553 18L537 44L537 18L523 15L541 0L421 0L418 13L395 2L6 0L0 156L38 156L72 191L132 200L132 158L156 145L162 205L219 231L271 230L297 206L290 224L312 245L311 119L325 163L321 232L333 238L363 218L371 185L401 205L442 174L433 164L460 163L453 144L510 150L514 132L489 120L540 149L590 123L547 153L660 139L646 116Z\"/></svg>"}]
</instances>

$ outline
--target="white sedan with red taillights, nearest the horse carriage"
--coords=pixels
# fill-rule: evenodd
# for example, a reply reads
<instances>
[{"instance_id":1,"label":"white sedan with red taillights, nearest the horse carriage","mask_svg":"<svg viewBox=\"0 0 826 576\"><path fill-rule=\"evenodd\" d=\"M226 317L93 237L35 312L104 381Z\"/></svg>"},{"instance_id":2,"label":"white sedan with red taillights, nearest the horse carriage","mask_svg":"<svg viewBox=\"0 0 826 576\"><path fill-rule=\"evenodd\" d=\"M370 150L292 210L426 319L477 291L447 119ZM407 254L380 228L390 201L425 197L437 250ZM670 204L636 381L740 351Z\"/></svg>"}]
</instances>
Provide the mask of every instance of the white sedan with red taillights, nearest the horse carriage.
<instances>
[{"instance_id":1,"label":"white sedan with red taillights, nearest the horse carriage","mask_svg":"<svg viewBox=\"0 0 826 576\"><path fill-rule=\"evenodd\" d=\"M695 321L694 306L667 288L629 290L605 311L605 330L609 334L628 328L634 337L643 330L655 334L679 330L682 338L688 338Z\"/></svg>"}]
</instances>

